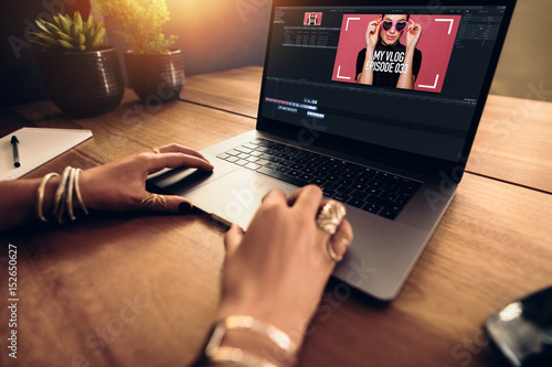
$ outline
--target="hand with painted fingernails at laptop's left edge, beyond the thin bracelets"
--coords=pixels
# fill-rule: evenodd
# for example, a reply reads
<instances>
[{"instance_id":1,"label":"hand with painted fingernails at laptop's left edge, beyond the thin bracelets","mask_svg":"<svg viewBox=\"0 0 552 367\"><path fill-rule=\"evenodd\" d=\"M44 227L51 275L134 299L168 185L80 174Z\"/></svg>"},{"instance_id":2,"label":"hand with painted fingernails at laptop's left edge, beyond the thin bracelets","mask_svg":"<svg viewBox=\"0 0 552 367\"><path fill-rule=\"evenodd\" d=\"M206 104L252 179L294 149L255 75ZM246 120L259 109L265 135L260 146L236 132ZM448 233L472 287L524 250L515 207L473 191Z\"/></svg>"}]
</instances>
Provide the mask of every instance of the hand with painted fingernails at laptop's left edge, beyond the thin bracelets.
<instances>
[{"instance_id":1,"label":"hand with painted fingernails at laptop's left edge, beyond the thin bracelets","mask_svg":"<svg viewBox=\"0 0 552 367\"><path fill-rule=\"evenodd\" d=\"M146 191L146 179L150 173L166 168L188 166L212 171L213 166L199 152L179 144L159 148L160 153L140 153L119 161L81 172L79 186L83 202L89 209L135 211L142 208L142 199L150 193ZM163 195L167 212L182 212L191 203L181 196Z\"/></svg>"}]
</instances>

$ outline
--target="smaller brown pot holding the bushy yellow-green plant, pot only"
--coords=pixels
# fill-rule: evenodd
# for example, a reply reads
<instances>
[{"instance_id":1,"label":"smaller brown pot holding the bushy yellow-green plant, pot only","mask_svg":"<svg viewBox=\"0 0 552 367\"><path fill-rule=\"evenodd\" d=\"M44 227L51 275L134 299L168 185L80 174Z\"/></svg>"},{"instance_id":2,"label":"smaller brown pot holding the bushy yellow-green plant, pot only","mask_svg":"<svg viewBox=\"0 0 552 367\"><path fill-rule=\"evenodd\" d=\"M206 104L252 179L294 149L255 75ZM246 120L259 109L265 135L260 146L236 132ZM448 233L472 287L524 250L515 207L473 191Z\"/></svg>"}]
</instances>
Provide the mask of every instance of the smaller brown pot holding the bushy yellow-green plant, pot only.
<instances>
[{"instance_id":1,"label":"smaller brown pot holding the bushy yellow-green plant, pot only","mask_svg":"<svg viewBox=\"0 0 552 367\"><path fill-rule=\"evenodd\" d=\"M167 54L125 53L128 82L140 100L159 105L178 99L184 86L184 61L180 50Z\"/></svg>"}]
</instances>

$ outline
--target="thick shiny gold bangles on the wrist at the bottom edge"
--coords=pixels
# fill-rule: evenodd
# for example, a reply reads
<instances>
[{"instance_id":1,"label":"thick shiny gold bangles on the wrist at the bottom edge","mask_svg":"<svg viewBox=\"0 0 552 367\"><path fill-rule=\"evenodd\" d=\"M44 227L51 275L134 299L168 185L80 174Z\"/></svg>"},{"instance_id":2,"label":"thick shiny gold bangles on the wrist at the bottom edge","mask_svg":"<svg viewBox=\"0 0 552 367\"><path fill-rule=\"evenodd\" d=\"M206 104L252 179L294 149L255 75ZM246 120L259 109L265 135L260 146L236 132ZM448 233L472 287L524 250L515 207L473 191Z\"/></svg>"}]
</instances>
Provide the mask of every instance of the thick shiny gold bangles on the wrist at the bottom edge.
<instances>
[{"instance_id":1,"label":"thick shiny gold bangles on the wrist at the bottom edge","mask_svg":"<svg viewBox=\"0 0 552 367\"><path fill-rule=\"evenodd\" d=\"M296 358L297 346L289 336L276 326L265 324L252 316L233 315L220 321L211 334L205 347L205 357L210 363L233 363L246 367L278 367L262 357L253 356L241 348L221 346L222 339L229 330L247 330L267 337L285 355L284 360Z\"/></svg>"}]
</instances>

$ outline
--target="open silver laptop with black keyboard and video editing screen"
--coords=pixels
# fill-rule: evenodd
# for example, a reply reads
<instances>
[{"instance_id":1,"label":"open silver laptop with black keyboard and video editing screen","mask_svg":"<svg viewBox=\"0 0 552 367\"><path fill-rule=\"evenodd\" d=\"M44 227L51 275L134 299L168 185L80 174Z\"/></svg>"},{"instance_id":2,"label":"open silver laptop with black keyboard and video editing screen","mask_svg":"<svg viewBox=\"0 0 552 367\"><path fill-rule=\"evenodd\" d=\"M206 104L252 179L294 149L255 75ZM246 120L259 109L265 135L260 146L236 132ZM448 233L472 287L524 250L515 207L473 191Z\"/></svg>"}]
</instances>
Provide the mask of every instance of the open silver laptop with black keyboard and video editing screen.
<instances>
[{"instance_id":1,"label":"open silver laptop with black keyboard and video editing screen","mask_svg":"<svg viewBox=\"0 0 552 367\"><path fill-rule=\"evenodd\" d=\"M354 230L333 276L391 301L461 180L514 2L274 0L256 129L202 150L212 173L148 184L243 228L270 188L317 184Z\"/></svg>"}]
</instances>

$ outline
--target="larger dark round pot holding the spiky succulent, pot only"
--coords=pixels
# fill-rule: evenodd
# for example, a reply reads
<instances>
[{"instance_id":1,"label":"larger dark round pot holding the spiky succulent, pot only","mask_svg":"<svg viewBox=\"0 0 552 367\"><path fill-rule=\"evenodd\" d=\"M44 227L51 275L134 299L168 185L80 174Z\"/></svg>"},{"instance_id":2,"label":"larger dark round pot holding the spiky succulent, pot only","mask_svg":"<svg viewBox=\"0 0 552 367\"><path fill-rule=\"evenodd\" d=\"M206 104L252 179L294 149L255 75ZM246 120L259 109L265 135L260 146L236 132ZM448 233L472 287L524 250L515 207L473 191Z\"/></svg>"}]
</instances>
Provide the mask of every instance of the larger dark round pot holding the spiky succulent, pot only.
<instances>
[{"instance_id":1,"label":"larger dark round pot holding the spiky succulent, pot only","mask_svg":"<svg viewBox=\"0 0 552 367\"><path fill-rule=\"evenodd\" d=\"M42 79L52 101L72 117L92 117L116 109L125 93L117 51L38 54Z\"/></svg>"}]
</instances>

